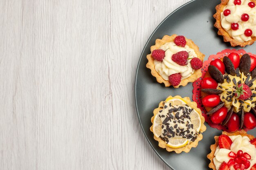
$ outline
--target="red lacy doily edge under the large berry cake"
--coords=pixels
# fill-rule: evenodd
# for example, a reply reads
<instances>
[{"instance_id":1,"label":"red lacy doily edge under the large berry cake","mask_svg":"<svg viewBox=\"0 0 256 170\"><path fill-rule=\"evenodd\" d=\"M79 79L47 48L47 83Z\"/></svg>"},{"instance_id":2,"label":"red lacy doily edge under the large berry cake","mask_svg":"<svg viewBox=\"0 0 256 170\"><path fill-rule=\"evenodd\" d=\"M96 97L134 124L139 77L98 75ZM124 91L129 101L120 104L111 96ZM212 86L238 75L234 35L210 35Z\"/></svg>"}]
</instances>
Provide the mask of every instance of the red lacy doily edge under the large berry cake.
<instances>
[{"instance_id":1,"label":"red lacy doily edge under the large berry cake","mask_svg":"<svg viewBox=\"0 0 256 170\"><path fill-rule=\"evenodd\" d=\"M230 53L238 53L240 55L243 55L247 52L243 49L240 49L240 50L225 49L225 50L217 53L216 55L210 55L208 60L204 61L203 66L201 68L202 77L198 78L195 82L193 82L193 95L192 95L193 101L196 102L198 104L198 108L200 108L202 110L202 115L204 116L205 121L209 124L209 126L211 126L212 128L217 128L218 130L225 130L227 132L229 132L229 130L227 129L226 126L222 126L221 124L213 124L211 122L210 116L206 115L207 111L205 110L204 106L202 105L200 83L201 83L202 78L204 77L205 73L208 71L208 66L210 65L210 62L212 60L217 59L217 58L220 59L220 58L223 58L225 56L228 56ZM248 54L256 57L256 55L254 55L252 53L248 53ZM245 129L245 130L247 131L248 129Z\"/></svg>"}]
</instances>

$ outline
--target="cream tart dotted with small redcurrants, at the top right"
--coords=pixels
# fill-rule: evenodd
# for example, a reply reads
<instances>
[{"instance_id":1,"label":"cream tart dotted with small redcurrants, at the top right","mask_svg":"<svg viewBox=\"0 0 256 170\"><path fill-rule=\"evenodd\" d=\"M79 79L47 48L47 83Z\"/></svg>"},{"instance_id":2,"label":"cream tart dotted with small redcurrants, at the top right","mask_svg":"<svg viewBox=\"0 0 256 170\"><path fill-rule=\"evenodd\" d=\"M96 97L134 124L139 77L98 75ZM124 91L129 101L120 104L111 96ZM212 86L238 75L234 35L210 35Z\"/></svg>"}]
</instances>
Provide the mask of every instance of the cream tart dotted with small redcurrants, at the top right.
<instances>
[{"instance_id":1,"label":"cream tart dotted with small redcurrants, at the top right","mask_svg":"<svg viewBox=\"0 0 256 170\"><path fill-rule=\"evenodd\" d=\"M256 0L221 0L214 26L231 46L251 45L256 40Z\"/></svg>"}]
</instances>

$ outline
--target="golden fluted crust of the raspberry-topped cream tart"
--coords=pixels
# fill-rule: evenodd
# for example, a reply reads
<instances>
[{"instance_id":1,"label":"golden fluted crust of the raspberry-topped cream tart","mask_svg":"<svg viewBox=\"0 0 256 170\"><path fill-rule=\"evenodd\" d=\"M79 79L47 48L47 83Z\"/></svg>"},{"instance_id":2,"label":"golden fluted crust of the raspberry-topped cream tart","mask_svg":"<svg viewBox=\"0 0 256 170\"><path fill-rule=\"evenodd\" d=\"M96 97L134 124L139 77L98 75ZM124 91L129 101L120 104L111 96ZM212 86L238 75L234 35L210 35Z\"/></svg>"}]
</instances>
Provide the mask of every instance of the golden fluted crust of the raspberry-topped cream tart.
<instances>
[{"instance_id":1,"label":"golden fluted crust of the raspberry-topped cream tart","mask_svg":"<svg viewBox=\"0 0 256 170\"><path fill-rule=\"evenodd\" d=\"M146 64L146 67L150 68L151 74L154 77L156 77L157 82L164 83L166 87L171 86L171 83L163 79L161 75L157 73L157 71L155 70L154 58L152 57L151 54L152 54L152 51L154 51L155 49L159 49L159 47L164 45L166 42L173 42L176 37L177 37L176 34L173 34L171 36L164 35L162 39L155 40L155 45L150 47L151 53L147 55L148 63ZM195 43L192 40L189 40L186 38L186 45L188 45L191 49L195 50L195 53L200 60L202 61L204 60L204 54L199 51L198 46L195 45ZM183 79L179 85L173 86L173 87L178 88L179 86L186 86L189 82L194 82L195 80L197 80L199 77L201 77L201 75L202 75L201 69L195 70L190 77Z\"/></svg>"}]
</instances>

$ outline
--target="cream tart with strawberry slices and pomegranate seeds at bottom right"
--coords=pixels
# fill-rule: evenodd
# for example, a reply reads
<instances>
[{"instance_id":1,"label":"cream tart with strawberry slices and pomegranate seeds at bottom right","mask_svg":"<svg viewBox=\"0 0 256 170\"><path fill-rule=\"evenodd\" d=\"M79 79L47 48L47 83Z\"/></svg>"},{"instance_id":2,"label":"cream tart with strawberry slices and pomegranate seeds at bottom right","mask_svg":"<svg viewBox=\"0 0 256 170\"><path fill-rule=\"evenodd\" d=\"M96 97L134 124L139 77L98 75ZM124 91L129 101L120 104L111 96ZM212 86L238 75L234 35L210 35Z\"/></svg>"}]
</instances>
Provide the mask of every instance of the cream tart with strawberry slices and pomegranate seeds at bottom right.
<instances>
[{"instance_id":1,"label":"cream tart with strawberry slices and pomegranate seeds at bottom right","mask_svg":"<svg viewBox=\"0 0 256 170\"><path fill-rule=\"evenodd\" d=\"M222 132L211 145L209 168L213 170L255 170L256 138L245 130Z\"/></svg>"}]
</instances>

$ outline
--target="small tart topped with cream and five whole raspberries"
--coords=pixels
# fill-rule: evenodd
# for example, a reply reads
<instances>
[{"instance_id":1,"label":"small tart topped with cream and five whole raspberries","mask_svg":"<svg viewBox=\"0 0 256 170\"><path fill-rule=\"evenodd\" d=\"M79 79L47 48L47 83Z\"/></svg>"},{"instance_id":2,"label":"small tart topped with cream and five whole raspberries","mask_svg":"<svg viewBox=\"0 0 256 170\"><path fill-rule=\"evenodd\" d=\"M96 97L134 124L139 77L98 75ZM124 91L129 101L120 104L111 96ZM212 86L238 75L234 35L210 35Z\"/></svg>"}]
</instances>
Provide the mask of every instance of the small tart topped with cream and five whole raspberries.
<instances>
[{"instance_id":1,"label":"small tart topped with cream and five whole raspberries","mask_svg":"<svg viewBox=\"0 0 256 170\"><path fill-rule=\"evenodd\" d=\"M164 35L155 41L150 51L146 67L150 68L157 82L164 83L166 87L186 86L202 75L200 68L204 54L184 36Z\"/></svg>"}]
</instances>

